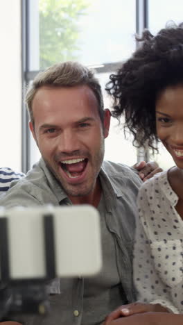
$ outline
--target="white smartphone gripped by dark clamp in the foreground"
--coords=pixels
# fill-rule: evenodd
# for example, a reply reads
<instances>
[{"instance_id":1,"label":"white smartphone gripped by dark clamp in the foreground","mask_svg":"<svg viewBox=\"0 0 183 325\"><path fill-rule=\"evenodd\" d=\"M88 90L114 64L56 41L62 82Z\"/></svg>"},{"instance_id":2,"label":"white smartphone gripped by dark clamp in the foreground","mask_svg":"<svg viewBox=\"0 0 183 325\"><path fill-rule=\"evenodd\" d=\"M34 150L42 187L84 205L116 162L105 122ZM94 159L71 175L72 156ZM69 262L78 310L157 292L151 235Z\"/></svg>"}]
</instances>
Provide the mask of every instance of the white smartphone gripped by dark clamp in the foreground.
<instances>
[{"instance_id":1,"label":"white smartphone gripped by dark clamp in the foreground","mask_svg":"<svg viewBox=\"0 0 183 325\"><path fill-rule=\"evenodd\" d=\"M96 208L16 207L0 210L0 280L93 276L102 267Z\"/></svg>"}]
</instances>

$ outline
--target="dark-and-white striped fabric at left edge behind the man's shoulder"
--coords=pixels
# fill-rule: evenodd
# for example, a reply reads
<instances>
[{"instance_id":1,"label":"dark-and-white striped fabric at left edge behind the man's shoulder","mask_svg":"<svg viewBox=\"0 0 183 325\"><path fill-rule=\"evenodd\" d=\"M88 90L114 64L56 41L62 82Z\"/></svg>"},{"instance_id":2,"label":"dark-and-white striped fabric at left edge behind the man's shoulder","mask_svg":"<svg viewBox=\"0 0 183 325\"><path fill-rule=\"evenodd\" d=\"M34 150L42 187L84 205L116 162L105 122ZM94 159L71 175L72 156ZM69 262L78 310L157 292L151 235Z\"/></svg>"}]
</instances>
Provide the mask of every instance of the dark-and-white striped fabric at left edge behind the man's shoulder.
<instances>
[{"instance_id":1,"label":"dark-and-white striped fabric at left edge behind the man's shoulder","mask_svg":"<svg viewBox=\"0 0 183 325\"><path fill-rule=\"evenodd\" d=\"M17 173L11 168L0 168L0 192L8 191L11 181L25 176L23 173Z\"/></svg>"}]
</instances>

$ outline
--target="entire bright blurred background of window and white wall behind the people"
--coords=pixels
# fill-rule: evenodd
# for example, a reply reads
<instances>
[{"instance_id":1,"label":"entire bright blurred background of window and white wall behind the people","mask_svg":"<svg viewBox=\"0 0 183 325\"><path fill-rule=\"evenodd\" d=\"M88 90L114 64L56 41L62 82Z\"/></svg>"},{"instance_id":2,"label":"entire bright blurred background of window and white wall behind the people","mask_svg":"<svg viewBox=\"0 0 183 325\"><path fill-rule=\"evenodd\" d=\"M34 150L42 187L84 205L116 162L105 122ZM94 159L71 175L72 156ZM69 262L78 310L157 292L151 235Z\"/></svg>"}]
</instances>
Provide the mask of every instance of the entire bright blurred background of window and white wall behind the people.
<instances>
[{"instance_id":1,"label":"entire bright blurred background of window and white wall behind the people","mask_svg":"<svg viewBox=\"0 0 183 325\"><path fill-rule=\"evenodd\" d=\"M182 9L182 0L1 0L0 167L27 172L40 158L24 106L26 86L40 70L64 60L93 67L110 108L105 84L138 46L135 33L182 22ZM161 145L155 156L137 150L112 119L105 159L133 165L144 158L164 169L174 165Z\"/></svg>"}]
</instances>

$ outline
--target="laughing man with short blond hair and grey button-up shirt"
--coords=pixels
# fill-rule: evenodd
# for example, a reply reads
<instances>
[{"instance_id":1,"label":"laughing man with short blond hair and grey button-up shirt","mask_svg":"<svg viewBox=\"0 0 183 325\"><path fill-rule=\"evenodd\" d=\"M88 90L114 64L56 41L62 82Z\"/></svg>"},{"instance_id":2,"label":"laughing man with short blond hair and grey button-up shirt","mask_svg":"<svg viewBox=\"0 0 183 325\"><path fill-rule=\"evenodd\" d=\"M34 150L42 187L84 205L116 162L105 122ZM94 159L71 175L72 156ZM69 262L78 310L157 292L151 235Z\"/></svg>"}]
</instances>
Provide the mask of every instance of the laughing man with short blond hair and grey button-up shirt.
<instances>
[{"instance_id":1,"label":"laughing man with short blond hair and grey button-up shirt","mask_svg":"<svg viewBox=\"0 0 183 325\"><path fill-rule=\"evenodd\" d=\"M0 205L96 207L103 268L92 278L53 280L48 288L50 315L25 317L25 324L102 324L117 306L135 299L132 247L141 179L133 168L103 161L111 115L91 70L72 62L49 67L31 83L26 103L42 158L13 184Z\"/></svg>"}]
</instances>

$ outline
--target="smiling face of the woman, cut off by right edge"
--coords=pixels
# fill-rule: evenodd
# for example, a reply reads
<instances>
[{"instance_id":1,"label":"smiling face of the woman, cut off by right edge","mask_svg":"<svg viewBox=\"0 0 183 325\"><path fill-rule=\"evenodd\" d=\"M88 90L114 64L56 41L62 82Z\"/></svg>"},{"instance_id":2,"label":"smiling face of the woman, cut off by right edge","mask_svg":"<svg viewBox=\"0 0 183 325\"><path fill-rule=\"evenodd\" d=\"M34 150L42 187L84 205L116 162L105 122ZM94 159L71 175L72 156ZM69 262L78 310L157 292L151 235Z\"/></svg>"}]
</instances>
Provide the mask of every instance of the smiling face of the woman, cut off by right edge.
<instances>
[{"instance_id":1,"label":"smiling face of the woman, cut off by right edge","mask_svg":"<svg viewBox=\"0 0 183 325\"><path fill-rule=\"evenodd\" d=\"M168 87L156 101L157 136L183 169L183 85Z\"/></svg>"}]
</instances>

